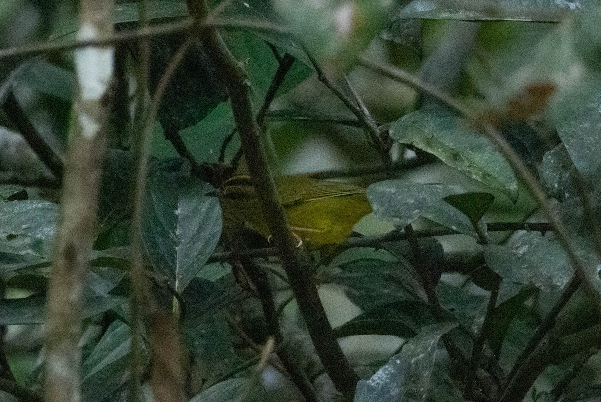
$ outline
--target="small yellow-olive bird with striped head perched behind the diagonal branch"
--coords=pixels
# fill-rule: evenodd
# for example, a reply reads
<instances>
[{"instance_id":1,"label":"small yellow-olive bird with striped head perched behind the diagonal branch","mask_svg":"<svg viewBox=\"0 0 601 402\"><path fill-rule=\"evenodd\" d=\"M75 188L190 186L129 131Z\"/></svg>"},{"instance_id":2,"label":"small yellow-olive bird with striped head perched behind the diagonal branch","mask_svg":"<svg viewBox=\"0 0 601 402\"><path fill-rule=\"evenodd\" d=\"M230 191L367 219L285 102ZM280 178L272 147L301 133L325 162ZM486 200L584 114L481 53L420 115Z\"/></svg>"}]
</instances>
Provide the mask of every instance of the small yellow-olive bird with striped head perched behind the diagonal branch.
<instances>
[{"instance_id":1,"label":"small yellow-olive bird with striped head perched behind the diagonal branch","mask_svg":"<svg viewBox=\"0 0 601 402\"><path fill-rule=\"evenodd\" d=\"M371 212L363 187L307 176L279 177L275 185L292 231L310 246L341 242L359 219ZM219 200L224 230L246 224L261 236L269 236L250 176L224 181Z\"/></svg>"}]
</instances>

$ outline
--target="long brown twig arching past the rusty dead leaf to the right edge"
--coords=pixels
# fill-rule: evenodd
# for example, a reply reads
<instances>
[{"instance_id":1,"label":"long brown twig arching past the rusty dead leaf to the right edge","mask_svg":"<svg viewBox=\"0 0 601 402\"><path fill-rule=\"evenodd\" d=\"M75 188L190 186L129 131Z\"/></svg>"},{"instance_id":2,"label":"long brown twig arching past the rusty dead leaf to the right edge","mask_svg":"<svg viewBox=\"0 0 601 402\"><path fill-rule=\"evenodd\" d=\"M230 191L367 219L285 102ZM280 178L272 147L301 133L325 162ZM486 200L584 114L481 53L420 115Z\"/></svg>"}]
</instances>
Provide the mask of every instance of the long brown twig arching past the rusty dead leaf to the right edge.
<instances>
[{"instance_id":1,"label":"long brown twig arching past the rusty dead leaf to the right edge","mask_svg":"<svg viewBox=\"0 0 601 402\"><path fill-rule=\"evenodd\" d=\"M575 268L576 275L579 277L580 281L584 285L588 297L590 297L597 312L601 314L601 294L599 294L599 292L597 291L596 286L593 283L594 279L591 277L591 275L589 275L587 268L582 264L582 261L578 258L575 248L572 246L572 242L570 240L572 236L570 236L570 234L566 230L566 227L563 225L563 222L561 222L561 219L555 214L554 208L551 206L551 204L549 204L545 190L543 190L540 184L538 184L538 181L536 180L534 175L532 175L528 167L522 162L522 159L520 159L520 157L516 154L516 152L509 144L509 142L507 142L507 140L502 136L502 134L499 133L499 131L494 126L492 126L492 124L481 121L478 118L478 116L473 111L471 111L471 109L460 105L452 97L448 96L447 94L441 93L438 90L435 90L429 85L424 84L424 82L421 82L418 78L415 78L409 73L397 69L396 67L389 64L378 64L364 56L361 57L360 62L365 67L373 69L374 71L377 71L382 75L403 82L403 84L410 85L418 91L436 97L436 99L440 100L449 108L453 109L453 111L456 111L460 115L463 115L463 117L465 117L469 121L478 122L480 125L484 124L484 134L486 134L487 138L493 144L496 145L496 148L499 150L502 156L504 156L505 160L507 160L511 168L513 168L513 171L515 172L517 178L526 185L526 189L531 193L534 199L536 199L542 207L543 212L545 212L545 215L549 220L549 223L554 228L555 238L566 251L566 254L570 260L570 264L572 264L572 266Z\"/></svg>"}]
</instances>

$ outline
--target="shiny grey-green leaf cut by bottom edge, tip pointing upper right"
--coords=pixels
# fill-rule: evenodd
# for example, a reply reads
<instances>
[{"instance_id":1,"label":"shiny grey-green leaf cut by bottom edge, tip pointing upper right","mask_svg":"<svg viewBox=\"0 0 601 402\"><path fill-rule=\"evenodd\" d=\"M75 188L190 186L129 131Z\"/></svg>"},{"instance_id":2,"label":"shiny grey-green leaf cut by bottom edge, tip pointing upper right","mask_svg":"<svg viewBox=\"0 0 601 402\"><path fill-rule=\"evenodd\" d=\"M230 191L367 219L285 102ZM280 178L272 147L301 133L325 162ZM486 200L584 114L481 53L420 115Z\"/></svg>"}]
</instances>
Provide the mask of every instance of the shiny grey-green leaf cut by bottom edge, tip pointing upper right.
<instances>
[{"instance_id":1,"label":"shiny grey-green leaf cut by bottom edge, tip pointing upper right","mask_svg":"<svg viewBox=\"0 0 601 402\"><path fill-rule=\"evenodd\" d=\"M370 380L359 381L355 402L423 401L435 363L436 344L456 326L444 323L424 327Z\"/></svg>"}]
</instances>

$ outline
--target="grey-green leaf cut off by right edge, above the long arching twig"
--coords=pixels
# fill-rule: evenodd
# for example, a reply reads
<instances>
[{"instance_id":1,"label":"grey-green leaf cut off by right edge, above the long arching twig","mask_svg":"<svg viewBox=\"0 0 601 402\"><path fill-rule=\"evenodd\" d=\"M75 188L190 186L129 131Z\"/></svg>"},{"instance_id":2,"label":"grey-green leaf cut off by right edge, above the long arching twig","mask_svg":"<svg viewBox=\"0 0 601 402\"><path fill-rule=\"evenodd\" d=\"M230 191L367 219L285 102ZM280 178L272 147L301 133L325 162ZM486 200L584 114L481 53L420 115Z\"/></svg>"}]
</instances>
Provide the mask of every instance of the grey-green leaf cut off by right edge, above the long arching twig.
<instances>
[{"instance_id":1,"label":"grey-green leaf cut off by right edge, above the long arching twig","mask_svg":"<svg viewBox=\"0 0 601 402\"><path fill-rule=\"evenodd\" d=\"M570 115L557 126L557 132L574 165L595 187L601 174L601 95Z\"/></svg>"}]
</instances>

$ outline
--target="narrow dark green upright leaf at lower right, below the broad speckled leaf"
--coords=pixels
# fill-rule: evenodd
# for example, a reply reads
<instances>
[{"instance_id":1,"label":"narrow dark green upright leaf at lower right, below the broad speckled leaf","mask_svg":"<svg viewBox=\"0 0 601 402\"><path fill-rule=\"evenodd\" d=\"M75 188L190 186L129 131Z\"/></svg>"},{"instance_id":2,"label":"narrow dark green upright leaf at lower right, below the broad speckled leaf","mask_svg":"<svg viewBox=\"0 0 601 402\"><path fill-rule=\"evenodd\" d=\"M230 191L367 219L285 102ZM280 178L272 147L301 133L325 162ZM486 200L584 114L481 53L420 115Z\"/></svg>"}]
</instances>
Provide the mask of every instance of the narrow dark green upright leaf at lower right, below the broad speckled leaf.
<instances>
[{"instance_id":1,"label":"narrow dark green upright leaf at lower right, below the broad speckled leaf","mask_svg":"<svg viewBox=\"0 0 601 402\"><path fill-rule=\"evenodd\" d=\"M516 296L502 302L495 308L495 311L493 311L493 314L490 316L490 326L487 328L486 337L489 340L490 348L495 353L495 356L498 356L501 352L505 334L507 334L511 321L516 317L516 314L519 312L523 303L528 300L535 291L534 288L526 288L516 294Z\"/></svg>"}]
</instances>

